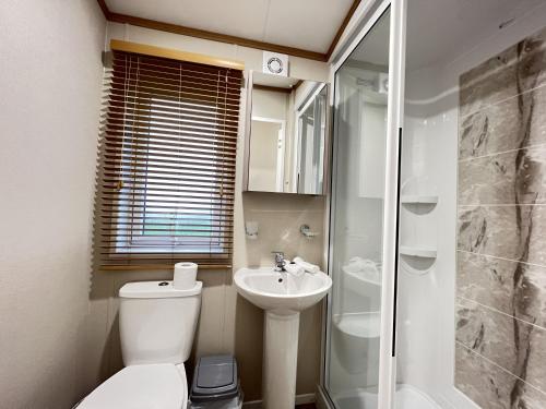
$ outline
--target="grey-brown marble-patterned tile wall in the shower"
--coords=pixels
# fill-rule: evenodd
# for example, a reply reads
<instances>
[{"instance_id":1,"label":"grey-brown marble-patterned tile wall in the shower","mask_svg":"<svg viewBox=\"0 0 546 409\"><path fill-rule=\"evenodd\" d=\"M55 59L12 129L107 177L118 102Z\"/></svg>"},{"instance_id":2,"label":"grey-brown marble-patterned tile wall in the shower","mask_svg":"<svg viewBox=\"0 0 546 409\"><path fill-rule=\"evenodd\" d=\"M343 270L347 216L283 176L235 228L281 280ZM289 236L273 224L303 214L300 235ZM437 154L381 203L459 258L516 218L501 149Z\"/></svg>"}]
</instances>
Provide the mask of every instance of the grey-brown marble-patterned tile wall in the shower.
<instances>
[{"instance_id":1,"label":"grey-brown marble-patterned tile wall in the shower","mask_svg":"<svg viewBox=\"0 0 546 409\"><path fill-rule=\"evenodd\" d=\"M455 386L546 408L546 29L461 75Z\"/></svg>"}]
</instances>

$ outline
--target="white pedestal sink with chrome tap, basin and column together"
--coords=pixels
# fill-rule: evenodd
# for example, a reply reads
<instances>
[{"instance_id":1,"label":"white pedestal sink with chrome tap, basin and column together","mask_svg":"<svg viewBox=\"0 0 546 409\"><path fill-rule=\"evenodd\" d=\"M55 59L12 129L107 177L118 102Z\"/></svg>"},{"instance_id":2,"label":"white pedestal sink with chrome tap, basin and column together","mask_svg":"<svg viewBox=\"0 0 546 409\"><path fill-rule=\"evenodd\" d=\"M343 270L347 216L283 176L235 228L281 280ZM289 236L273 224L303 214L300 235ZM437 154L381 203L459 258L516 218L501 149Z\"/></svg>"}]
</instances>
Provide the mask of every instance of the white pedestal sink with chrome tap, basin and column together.
<instances>
[{"instance_id":1,"label":"white pedestal sink with chrome tap, basin and column together","mask_svg":"<svg viewBox=\"0 0 546 409\"><path fill-rule=\"evenodd\" d=\"M322 272L295 277L261 267L239 269L234 281L242 297L265 310L263 407L294 409L299 312L322 300L332 279Z\"/></svg>"}]
</instances>

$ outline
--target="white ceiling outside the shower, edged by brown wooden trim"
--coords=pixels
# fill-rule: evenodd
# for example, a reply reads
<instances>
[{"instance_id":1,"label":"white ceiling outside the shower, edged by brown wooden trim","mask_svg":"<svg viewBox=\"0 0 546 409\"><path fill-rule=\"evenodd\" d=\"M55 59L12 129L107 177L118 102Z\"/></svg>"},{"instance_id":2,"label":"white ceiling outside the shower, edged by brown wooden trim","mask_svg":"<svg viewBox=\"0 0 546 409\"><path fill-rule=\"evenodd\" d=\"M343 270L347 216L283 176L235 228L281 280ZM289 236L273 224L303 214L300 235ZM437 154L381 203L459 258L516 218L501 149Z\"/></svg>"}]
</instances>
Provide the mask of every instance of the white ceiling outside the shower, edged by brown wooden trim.
<instances>
[{"instance_id":1,"label":"white ceiling outside the shower, edged by brown wooden trim","mask_svg":"<svg viewBox=\"0 0 546 409\"><path fill-rule=\"evenodd\" d=\"M106 0L115 13L327 52L353 0Z\"/></svg>"}]
</instances>

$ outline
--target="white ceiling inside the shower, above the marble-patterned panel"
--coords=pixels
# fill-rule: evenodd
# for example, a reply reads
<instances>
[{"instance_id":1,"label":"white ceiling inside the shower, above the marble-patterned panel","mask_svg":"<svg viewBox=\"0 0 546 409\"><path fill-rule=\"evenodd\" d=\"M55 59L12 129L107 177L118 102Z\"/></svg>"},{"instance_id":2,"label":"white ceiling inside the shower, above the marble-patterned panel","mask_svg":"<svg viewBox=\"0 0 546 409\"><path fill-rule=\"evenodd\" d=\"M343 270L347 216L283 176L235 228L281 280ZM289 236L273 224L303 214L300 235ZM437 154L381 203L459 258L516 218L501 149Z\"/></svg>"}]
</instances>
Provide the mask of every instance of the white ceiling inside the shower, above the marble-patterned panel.
<instances>
[{"instance_id":1,"label":"white ceiling inside the shower, above the marble-patterned panel","mask_svg":"<svg viewBox=\"0 0 546 409\"><path fill-rule=\"evenodd\" d=\"M546 0L411 0L407 7L406 65L417 70L448 62ZM351 56L389 63L389 20L382 20Z\"/></svg>"}]
</instances>

